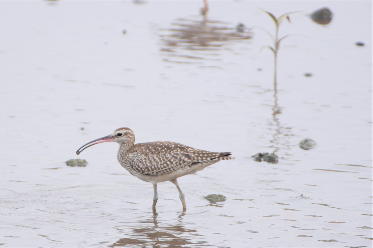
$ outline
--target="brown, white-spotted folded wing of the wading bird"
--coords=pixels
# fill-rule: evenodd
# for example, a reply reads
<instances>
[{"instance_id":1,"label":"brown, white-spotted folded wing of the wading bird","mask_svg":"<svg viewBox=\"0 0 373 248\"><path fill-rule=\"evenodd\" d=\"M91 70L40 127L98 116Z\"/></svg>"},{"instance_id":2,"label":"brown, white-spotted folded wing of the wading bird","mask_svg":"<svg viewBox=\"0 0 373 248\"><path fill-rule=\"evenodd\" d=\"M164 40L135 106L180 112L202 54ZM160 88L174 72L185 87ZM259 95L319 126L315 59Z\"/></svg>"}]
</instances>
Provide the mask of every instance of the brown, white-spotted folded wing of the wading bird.
<instances>
[{"instance_id":1,"label":"brown, white-spotted folded wing of the wading bird","mask_svg":"<svg viewBox=\"0 0 373 248\"><path fill-rule=\"evenodd\" d=\"M229 154L203 151L175 142L149 142L131 148L129 164L141 174L159 175Z\"/></svg>"}]
</instances>

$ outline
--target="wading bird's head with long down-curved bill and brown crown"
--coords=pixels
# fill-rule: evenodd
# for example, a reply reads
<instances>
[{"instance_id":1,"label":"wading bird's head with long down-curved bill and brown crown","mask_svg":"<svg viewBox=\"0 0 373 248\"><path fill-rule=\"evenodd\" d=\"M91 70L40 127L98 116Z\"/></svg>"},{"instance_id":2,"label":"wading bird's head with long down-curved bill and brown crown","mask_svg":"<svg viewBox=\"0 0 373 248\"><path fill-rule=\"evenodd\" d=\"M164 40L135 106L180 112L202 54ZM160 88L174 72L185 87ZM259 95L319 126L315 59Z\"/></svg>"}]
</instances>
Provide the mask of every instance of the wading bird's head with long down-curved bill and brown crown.
<instances>
[{"instance_id":1,"label":"wading bird's head with long down-curved bill and brown crown","mask_svg":"<svg viewBox=\"0 0 373 248\"><path fill-rule=\"evenodd\" d=\"M119 145L132 146L135 144L135 135L134 132L132 132L132 130L129 128L118 128L111 135L95 139L83 145L81 148L78 149L78 151L76 151L76 154L81 153L85 148L88 148L92 145L110 141L115 141L119 143Z\"/></svg>"}]
</instances>

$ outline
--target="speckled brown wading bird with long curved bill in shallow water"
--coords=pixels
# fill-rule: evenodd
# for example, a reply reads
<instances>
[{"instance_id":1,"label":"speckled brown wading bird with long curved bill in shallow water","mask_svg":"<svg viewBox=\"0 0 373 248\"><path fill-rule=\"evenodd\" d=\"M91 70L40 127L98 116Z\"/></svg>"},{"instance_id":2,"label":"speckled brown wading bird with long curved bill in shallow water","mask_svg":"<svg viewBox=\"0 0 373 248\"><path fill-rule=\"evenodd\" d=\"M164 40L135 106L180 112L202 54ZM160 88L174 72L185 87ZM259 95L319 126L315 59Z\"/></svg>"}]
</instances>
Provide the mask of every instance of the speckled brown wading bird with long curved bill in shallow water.
<instances>
[{"instance_id":1,"label":"speckled brown wading bird with long curved bill in shallow water","mask_svg":"<svg viewBox=\"0 0 373 248\"><path fill-rule=\"evenodd\" d=\"M183 212L186 211L185 196L177 178L203 170L220 160L231 160L231 152L210 152L176 142L156 141L135 144L135 134L130 128L117 128L111 135L95 139L81 146L84 149L103 142L117 142L117 159L129 173L142 181L153 184L153 212L158 201L157 183L170 181L179 191Z\"/></svg>"}]
</instances>

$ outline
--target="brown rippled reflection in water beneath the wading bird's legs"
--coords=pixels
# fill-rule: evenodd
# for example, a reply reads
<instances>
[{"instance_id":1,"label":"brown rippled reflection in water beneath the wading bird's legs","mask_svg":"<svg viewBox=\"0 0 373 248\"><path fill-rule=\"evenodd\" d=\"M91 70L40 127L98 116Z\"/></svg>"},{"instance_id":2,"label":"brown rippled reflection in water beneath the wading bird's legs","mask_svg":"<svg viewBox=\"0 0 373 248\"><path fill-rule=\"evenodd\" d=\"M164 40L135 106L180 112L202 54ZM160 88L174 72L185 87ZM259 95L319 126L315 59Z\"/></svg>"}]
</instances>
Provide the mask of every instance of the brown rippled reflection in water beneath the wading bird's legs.
<instances>
[{"instance_id":1,"label":"brown rippled reflection in water beneath the wading bird's legs","mask_svg":"<svg viewBox=\"0 0 373 248\"><path fill-rule=\"evenodd\" d=\"M131 245L134 245L134 247L137 247L137 245L150 245L151 247L185 247L185 245L188 245L188 247L191 247L192 245L197 245L195 237L201 235L198 235L194 229L184 228L182 223L184 215L184 212L179 215L177 223L159 225L158 213L153 213L152 218L138 222L136 225L140 227L132 229L131 233L121 231L118 228L119 233L131 236L131 238L120 238L109 247L128 247ZM142 223L145 223L145 226ZM193 242L185 237L187 236L185 234L192 235L194 238ZM206 243L203 245L206 246Z\"/></svg>"}]
</instances>

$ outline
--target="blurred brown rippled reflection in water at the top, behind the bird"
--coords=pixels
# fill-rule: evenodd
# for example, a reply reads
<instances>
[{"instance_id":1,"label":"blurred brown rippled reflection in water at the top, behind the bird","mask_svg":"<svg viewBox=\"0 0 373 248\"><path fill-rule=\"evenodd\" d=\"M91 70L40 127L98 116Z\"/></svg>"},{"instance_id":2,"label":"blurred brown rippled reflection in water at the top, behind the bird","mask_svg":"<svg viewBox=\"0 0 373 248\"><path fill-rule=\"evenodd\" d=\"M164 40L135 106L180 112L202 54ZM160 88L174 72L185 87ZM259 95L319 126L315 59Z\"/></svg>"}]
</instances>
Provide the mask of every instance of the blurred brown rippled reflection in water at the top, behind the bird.
<instances>
[{"instance_id":1,"label":"blurred brown rippled reflection in water at the top, behind the bird","mask_svg":"<svg viewBox=\"0 0 373 248\"><path fill-rule=\"evenodd\" d=\"M171 62L180 61L172 60L170 57L181 57L184 59L181 62L186 62L185 59L216 59L218 54L211 54L212 51L228 49L227 45L232 41L251 38L251 33L237 32L234 25L218 20L207 20L206 16L181 18L172 23L171 28L160 31L166 32L161 35L165 45L161 51L168 57L164 58L164 61Z\"/></svg>"}]
</instances>

